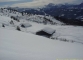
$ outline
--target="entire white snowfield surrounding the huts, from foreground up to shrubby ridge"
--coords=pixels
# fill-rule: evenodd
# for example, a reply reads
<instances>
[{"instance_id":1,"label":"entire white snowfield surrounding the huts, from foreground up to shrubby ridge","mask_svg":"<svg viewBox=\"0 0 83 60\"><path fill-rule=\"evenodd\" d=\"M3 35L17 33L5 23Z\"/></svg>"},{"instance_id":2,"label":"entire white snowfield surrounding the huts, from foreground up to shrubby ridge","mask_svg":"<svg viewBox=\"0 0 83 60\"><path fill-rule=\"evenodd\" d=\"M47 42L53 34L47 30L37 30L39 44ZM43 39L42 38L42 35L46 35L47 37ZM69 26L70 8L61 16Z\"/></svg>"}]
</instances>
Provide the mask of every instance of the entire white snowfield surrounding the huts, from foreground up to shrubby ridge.
<instances>
[{"instance_id":1,"label":"entire white snowfield surrounding the huts, from foreground up to shrubby ridge","mask_svg":"<svg viewBox=\"0 0 83 60\"><path fill-rule=\"evenodd\" d=\"M8 17L8 13L4 13L7 16L0 14L0 60L83 59L82 26L61 25L57 21L56 25L44 25L23 18L17 22ZM29 19L40 20L37 15ZM11 20L13 24L10 24ZM25 24L26 28L22 28L21 24ZM21 31L17 31L17 26ZM47 27L56 31L50 38L36 35Z\"/></svg>"}]
</instances>

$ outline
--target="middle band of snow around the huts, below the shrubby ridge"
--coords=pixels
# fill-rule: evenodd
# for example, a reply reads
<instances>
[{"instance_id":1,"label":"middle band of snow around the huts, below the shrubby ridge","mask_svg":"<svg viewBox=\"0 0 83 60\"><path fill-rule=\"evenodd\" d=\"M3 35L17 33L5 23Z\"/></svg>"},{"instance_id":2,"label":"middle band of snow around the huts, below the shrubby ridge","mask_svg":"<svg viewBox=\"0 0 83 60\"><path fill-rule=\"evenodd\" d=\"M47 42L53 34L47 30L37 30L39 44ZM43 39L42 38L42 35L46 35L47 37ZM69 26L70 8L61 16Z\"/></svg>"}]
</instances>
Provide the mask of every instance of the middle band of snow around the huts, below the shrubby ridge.
<instances>
[{"instance_id":1,"label":"middle band of snow around the huts, below the shrubby ridge","mask_svg":"<svg viewBox=\"0 0 83 60\"><path fill-rule=\"evenodd\" d=\"M34 16L35 17L35 16ZM10 17L0 16L0 27L4 24L5 29L17 30L20 28L22 32L27 32L31 34L36 34L36 32L42 30L43 28L49 27L54 29L56 32L51 37L54 40L60 40L65 42L76 42L83 44L83 27L82 26L61 26L61 25L44 25L38 24L31 21L21 19L20 22L12 20ZM11 20L13 24L10 24ZM21 27L21 25L28 25L26 28ZM48 29L47 29L48 30Z\"/></svg>"}]
</instances>

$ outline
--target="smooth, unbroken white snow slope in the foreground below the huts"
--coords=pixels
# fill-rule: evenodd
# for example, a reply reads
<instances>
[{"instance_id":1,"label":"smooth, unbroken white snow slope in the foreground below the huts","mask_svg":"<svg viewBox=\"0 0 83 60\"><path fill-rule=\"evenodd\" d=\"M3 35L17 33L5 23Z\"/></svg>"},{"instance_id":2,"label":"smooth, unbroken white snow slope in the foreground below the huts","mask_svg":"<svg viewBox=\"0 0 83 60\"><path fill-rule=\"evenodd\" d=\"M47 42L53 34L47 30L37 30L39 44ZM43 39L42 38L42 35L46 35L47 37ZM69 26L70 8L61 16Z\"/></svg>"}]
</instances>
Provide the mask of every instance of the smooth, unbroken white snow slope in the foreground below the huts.
<instances>
[{"instance_id":1,"label":"smooth, unbroken white snow slope in the foreground below the huts","mask_svg":"<svg viewBox=\"0 0 83 60\"><path fill-rule=\"evenodd\" d=\"M83 45L0 28L0 60L83 58Z\"/></svg>"}]
</instances>

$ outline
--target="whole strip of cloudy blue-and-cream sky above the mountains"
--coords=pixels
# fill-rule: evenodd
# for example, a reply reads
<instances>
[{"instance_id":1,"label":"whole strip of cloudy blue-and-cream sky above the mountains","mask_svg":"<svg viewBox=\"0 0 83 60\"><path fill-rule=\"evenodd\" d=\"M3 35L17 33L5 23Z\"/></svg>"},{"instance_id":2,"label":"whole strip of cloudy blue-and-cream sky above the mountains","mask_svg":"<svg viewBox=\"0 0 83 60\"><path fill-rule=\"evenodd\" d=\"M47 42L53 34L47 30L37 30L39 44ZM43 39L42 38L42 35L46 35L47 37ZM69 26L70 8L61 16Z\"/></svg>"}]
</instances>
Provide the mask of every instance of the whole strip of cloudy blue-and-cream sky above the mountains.
<instances>
[{"instance_id":1,"label":"whole strip of cloudy blue-and-cream sky above the mountains","mask_svg":"<svg viewBox=\"0 0 83 60\"><path fill-rule=\"evenodd\" d=\"M79 4L83 0L0 0L0 7L42 7L49 3L54 4L63 4L63 3L72 3Z\"/></svg>"}]
</instances>

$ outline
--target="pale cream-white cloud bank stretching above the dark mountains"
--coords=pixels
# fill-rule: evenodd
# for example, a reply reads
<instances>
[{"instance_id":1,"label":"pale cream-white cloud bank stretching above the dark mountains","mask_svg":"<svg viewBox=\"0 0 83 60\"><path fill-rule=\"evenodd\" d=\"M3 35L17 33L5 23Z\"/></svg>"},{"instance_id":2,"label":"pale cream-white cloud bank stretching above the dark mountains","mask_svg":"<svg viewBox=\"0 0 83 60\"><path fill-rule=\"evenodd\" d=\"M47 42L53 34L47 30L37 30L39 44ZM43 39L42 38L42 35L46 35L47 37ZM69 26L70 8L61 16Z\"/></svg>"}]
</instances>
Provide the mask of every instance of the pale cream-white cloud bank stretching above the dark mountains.
<instances>
[{"instance_id":1,"label":"pale cream-white cloud bank stretching above the dark mountains","mask_svg":"<svg viewBox=\"0 0 83 60\"><path fill-rule=\"evenodd\" d=\"M10 0L6 0L6 1L10 1ZM33 0L30 2L16 3L16 4L13 4L12 7L28 7L28 8L30 8L30 7L42 7L49 3L60 4L60 3L80 3L80 2L82 2L82 0L79 0L79 1L78 0Z\"/></svg>"}]
</instances>

